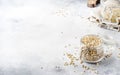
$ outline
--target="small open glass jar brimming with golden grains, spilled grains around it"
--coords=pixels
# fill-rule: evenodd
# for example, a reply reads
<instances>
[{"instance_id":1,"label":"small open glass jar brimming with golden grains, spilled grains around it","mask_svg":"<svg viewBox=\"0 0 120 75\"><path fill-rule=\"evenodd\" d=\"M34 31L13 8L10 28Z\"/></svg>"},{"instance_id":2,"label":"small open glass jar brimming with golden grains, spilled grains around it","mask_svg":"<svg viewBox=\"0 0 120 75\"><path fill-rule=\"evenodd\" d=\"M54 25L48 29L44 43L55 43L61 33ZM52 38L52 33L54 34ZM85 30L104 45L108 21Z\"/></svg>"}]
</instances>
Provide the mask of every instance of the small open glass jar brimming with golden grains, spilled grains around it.
<instances>
[{"instance_id":1,"label":"small open glass jar brimming with golden grains, spilled grains around it","mask_svg":"<svg viewBox=\"0 0 120 75\"><path fill-rule=\"evenodd\" d=\"M103 41L98 35L86 35L81 42L80 59L83 62L97 63L104 58Z\"/></svg>"}]
</instances>

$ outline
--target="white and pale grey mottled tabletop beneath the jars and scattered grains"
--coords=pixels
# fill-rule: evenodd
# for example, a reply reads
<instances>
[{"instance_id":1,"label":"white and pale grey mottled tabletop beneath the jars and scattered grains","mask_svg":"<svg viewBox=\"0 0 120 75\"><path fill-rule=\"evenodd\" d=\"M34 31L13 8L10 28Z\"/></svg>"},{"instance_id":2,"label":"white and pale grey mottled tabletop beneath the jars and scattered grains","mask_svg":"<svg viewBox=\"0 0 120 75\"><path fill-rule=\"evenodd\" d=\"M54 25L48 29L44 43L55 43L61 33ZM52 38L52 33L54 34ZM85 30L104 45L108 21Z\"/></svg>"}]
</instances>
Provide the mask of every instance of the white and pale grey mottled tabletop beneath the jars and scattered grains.
<instances>
[{"instance_id":1,"label":"white and pale grey mottled tabletop beneath the jars and scattered grains","mask_svg":"<svg viewBox=\"0 0 120 75\"><path fill-rule=\"evenodd\" d=\"M82 0L0 0L0 75L82 75L81 66L63 66L64 46L79 47L86 34L112 37L111 46L120 46L120 33L89 22L90 12ZM120 51L112 52L99 75L120 75Z\"/></svg>"}]
</instances>

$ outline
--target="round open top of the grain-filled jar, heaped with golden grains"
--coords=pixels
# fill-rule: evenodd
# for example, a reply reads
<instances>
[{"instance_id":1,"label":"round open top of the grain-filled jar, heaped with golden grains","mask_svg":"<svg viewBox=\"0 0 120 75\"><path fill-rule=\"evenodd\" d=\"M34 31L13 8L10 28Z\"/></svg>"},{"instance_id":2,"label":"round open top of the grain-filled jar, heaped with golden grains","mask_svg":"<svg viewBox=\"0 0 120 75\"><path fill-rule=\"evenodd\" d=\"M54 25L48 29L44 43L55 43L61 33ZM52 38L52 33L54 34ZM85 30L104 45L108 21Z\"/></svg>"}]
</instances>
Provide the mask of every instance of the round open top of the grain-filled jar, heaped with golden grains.
<instances>
[{"instance_id":1,"label":"round open top of the grain-filled jar, heaped with golden grains","mask_svg":"<svg viewBox=\"0 0 120 75\"><path fill-rule=\"evenodd\" d=\"M81 38L81 42L87 47L99 47L103 40L99 35L89 34Z\"/></svg>"}]
</instances>

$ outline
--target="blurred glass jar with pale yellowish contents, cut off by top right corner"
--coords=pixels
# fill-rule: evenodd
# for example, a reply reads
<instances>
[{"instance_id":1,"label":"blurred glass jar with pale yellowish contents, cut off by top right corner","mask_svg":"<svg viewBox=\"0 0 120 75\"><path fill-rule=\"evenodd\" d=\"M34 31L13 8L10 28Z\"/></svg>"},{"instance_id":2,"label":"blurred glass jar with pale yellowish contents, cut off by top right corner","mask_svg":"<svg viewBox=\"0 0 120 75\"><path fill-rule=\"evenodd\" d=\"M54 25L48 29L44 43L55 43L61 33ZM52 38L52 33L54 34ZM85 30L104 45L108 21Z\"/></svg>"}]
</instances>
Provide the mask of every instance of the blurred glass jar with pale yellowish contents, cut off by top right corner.
<instances>
[{"instance_id":1,"label":"blurred glass jar with pale yellowish contents, cut off by top right corner","mask_svg":"<svg viewBox=\"0 0 120 75\"><path fill-rule=\"evenodd\" d=\"M102 10L101 16L103 22L117 23L120 17L120 1L119 0L101 0Z\"/></svg>"}]
</instances>

